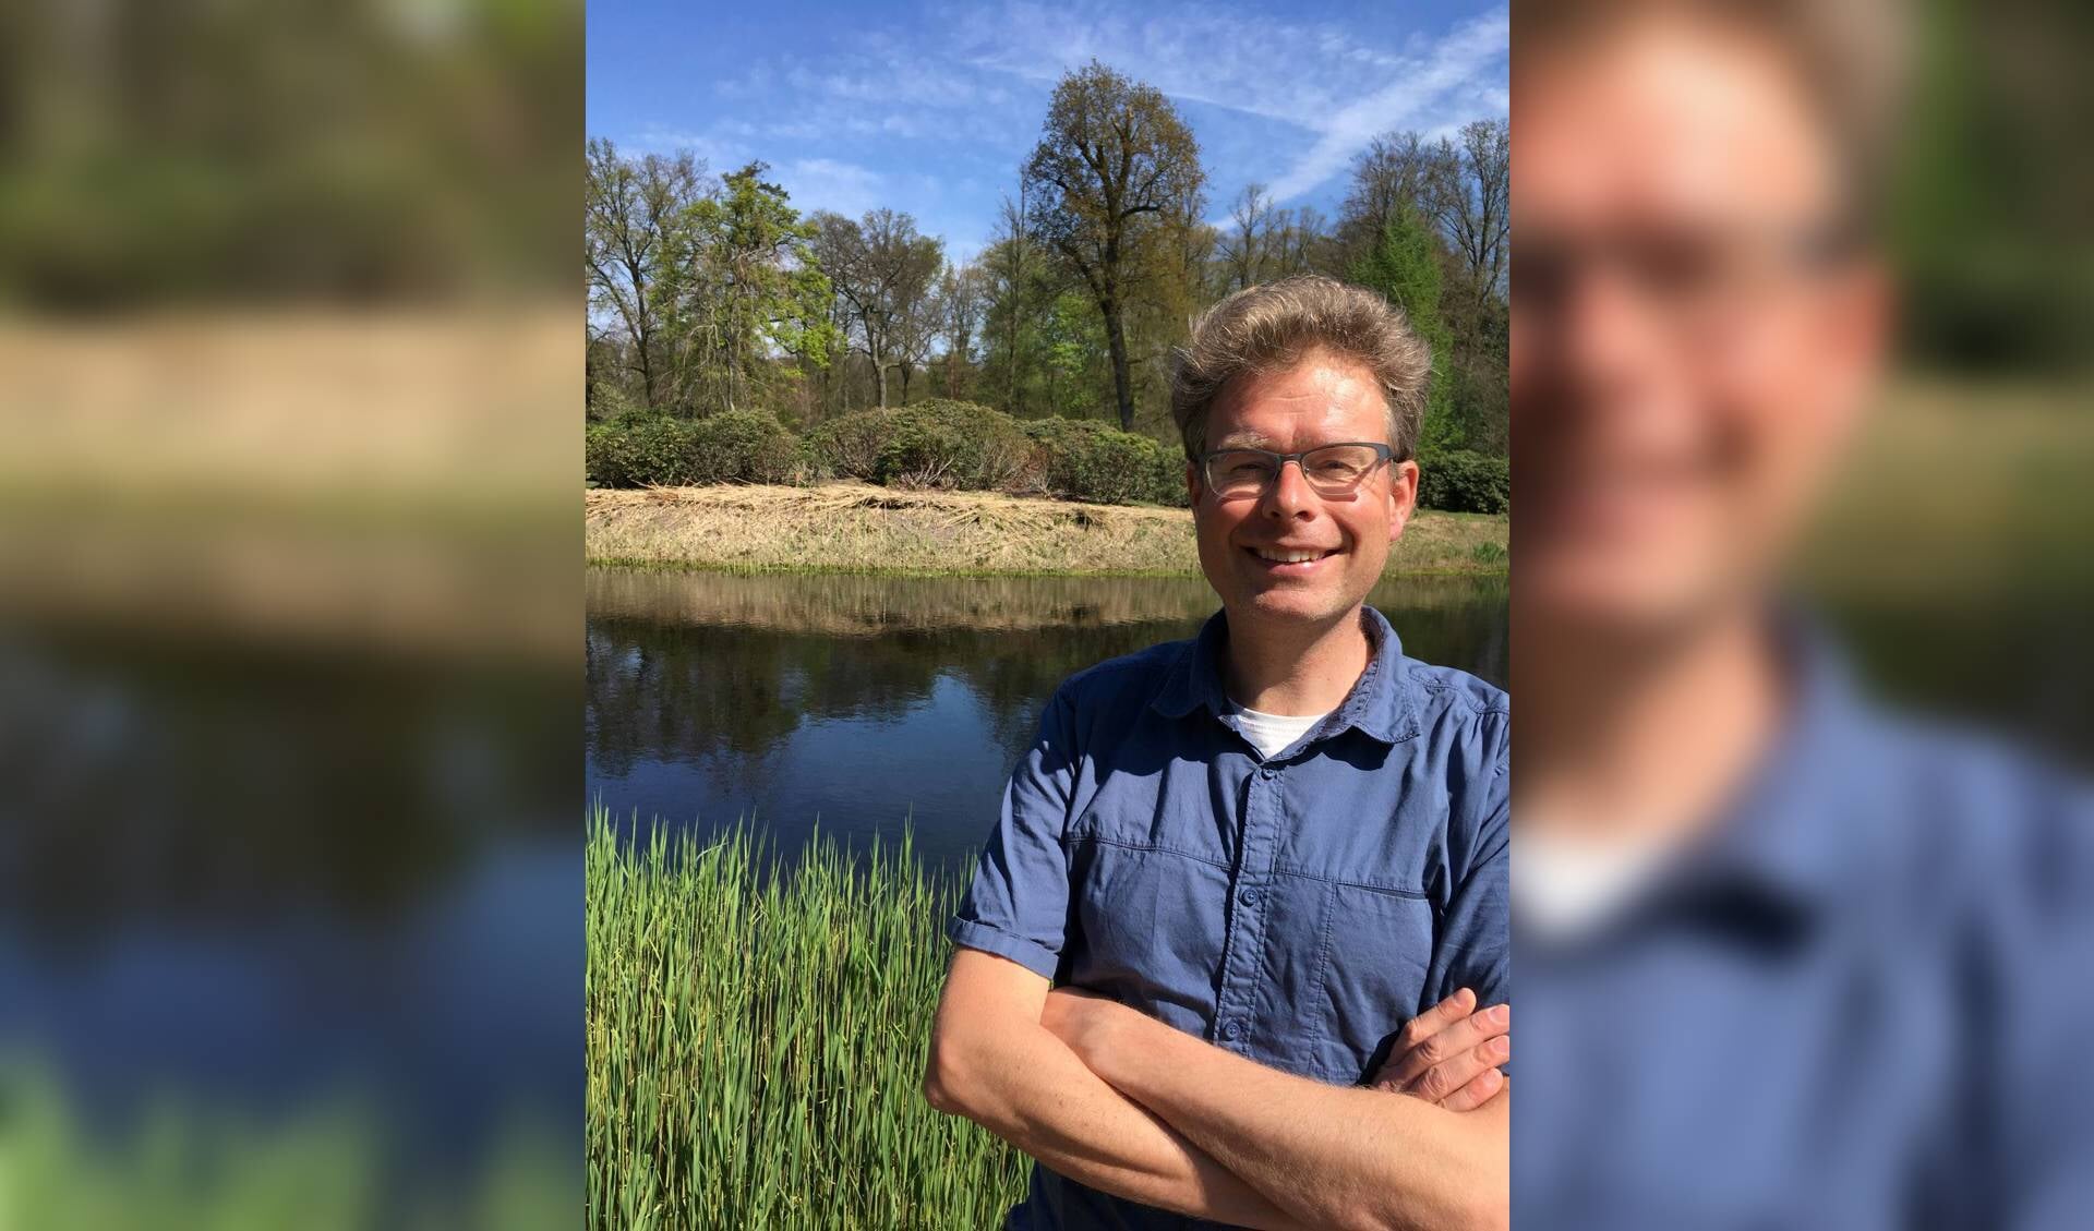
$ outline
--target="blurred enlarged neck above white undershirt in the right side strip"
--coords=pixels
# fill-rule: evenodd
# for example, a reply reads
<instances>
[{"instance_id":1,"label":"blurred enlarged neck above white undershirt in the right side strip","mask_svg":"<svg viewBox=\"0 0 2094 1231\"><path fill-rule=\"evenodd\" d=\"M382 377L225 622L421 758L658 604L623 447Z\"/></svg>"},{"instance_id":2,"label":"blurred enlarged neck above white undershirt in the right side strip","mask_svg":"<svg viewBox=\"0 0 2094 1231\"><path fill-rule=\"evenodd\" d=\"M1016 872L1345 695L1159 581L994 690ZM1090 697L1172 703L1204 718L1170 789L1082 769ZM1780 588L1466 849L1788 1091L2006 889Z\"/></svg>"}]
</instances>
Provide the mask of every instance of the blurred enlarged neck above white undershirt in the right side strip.
<instances>
[{"instance_id":1,"label":"blurred enlarged neck above white undershirt in the right side strip","mask_svg":"<svg viewBox=\"0 0 2094 1231\"><path fill-rule=\"evenodd\" d=\"M1514 618L1514 816L1585 840L1688 837L1772 743L1782 666L1765 611L1596 639Z\"/></svg>"}]
</instances>

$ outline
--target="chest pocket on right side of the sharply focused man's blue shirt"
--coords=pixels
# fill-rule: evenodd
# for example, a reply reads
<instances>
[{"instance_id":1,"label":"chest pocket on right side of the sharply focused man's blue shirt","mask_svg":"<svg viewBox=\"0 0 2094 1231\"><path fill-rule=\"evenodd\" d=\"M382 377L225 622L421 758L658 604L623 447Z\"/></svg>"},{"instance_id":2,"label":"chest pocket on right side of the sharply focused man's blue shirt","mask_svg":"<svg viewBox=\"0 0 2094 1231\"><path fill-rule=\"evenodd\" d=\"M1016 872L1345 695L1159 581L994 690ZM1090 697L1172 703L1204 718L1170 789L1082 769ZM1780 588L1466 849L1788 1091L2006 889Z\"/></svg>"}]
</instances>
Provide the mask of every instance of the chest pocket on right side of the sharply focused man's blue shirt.
<instances>
[{"instance_id":1,"label":"chest pocket on right side of the sharply focused man's blue shirt","mask_svg":"<svg viewBox=\"0 0 2094 1231\"><path fill-rule=\"evenodd\" d=\"M1311 1055L1328 1080L1359 1082L1382 1040L1418 1015L1432 965L1424 894L1330 881L1309 986Z\"/></svg>"}]
</instances>

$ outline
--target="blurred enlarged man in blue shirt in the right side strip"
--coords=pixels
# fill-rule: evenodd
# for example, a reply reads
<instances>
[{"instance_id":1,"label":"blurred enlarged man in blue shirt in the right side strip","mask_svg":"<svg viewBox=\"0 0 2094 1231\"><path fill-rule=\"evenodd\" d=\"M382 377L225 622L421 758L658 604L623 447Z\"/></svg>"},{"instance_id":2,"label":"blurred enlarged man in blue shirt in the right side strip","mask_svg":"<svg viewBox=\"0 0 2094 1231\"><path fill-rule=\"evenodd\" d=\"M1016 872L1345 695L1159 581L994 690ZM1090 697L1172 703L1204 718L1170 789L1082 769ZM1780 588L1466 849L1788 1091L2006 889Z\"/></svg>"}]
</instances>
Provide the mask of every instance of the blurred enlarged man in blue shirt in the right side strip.
<instances>
[{"instance_id":1,"label":"blurred enlarged man in blue shirt in the right side strip","mask_svg":"<svg viewBox=\"0 0 2094 1231\"><path fill-rule=\"evenodd\" d=\"M1887 345L1857 8L1518 15L1535 1227L2094 1225L2094 825L1774 599Z\"/></svg>"}]
</instances>

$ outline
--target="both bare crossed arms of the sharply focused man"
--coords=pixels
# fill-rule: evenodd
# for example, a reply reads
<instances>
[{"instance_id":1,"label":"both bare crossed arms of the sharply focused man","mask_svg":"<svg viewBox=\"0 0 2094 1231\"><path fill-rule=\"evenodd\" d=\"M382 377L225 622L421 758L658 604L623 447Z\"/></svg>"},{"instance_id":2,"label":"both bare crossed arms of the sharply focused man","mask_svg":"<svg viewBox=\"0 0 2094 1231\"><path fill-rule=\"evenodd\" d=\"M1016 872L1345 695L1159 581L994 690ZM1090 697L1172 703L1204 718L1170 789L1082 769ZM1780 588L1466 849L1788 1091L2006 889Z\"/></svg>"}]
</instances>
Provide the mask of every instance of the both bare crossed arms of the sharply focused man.
<instances>
[{"instance_id":1,"label":"both bare crossed arms of the sharply focused man","mask_svg":"<svg viewBox=\"0 0 2094 1231\"><path fill-rule=\"evenodd\" d=\"M1407 1026L1378 1089L1330 1087L959 948L923 1095L1064 1177L1181 1214L1261 1229L1503 1227L1503 1022L1470 1009L1449 997Z\"/></svg>"}]
</instances>

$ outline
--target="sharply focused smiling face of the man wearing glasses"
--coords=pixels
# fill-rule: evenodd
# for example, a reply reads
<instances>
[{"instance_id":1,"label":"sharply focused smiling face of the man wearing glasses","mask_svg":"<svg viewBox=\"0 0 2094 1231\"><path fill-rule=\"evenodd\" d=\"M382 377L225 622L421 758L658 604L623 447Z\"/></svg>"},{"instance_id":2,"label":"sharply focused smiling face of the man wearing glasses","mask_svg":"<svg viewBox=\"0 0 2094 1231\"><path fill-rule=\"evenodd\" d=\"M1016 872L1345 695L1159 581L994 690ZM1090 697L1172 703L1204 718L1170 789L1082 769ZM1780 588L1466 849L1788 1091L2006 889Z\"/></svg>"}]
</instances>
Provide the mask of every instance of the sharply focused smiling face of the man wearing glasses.
<instances>
[{"instance_id":1,"label":"sharply focused smiling face of the man wearing glasses","mask_svg":"<svg viewBox=\"0 0 2094 1231\"><path fill-rule=\"evenodd\" d=\"M1298 452L1321 444L1388 444L1372 375L1309 352L1290 371L1231 381L1206 421L1206 448ZM1200 567L1231 626L1328 622L1365 601L1418 496L1418 467L1376 467L1346 492L1317 492L1298 463L1263 496L1223 496L1187 469ZM1298 559L1307 553L1311 559Z\"/></svg>"}]
</instances>

